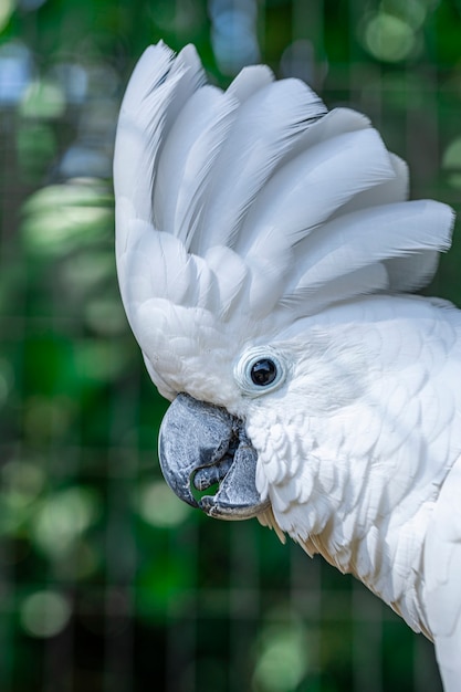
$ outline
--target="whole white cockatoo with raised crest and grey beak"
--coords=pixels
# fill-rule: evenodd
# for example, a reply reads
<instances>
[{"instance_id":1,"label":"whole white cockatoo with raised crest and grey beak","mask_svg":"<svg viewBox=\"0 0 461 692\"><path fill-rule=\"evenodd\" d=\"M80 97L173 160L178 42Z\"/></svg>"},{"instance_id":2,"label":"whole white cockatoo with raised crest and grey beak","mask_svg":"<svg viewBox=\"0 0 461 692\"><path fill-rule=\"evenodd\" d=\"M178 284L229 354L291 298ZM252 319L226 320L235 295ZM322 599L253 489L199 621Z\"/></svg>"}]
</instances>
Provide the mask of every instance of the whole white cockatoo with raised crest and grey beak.
<instances>
[{"instance_id":1,"label":"whole white cockatoo with raised crest and grey beak","mask_svg":"<svg viewBox=\"0 0 461 692\"><path fill-rule=\"evenodd\" d=\"M461 312L410 294L452 210L407 201L364 115L263 65L223 92L163 43L128 84L114 186L126 314L172 400L168 484L354 574L459 692Z\"/></svg>"}]
</instances>

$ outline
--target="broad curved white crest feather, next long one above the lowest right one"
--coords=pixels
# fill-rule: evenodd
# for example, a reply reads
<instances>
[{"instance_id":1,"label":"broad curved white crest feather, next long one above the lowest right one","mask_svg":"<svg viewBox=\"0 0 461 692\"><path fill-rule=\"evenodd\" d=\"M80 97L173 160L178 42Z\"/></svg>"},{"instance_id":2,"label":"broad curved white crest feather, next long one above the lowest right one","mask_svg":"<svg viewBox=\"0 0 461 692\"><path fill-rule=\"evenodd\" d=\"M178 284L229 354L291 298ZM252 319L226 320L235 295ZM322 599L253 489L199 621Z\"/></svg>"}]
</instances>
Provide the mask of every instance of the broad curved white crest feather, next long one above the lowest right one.
<instances>
[{"instance_id":1,"label":"broad curved white crest feather, next long one above the lowest right one","mask_svg":"<svg viewBox=\"0 0 461 692\"><path fill-rule=\"evenodd\" d=\"M308 235L363 190L389 179L394 168L376 130L324 139L274 174L252 206L235 249L250 256L279 256L284 245Z\"/></svg>"}]
</instances>

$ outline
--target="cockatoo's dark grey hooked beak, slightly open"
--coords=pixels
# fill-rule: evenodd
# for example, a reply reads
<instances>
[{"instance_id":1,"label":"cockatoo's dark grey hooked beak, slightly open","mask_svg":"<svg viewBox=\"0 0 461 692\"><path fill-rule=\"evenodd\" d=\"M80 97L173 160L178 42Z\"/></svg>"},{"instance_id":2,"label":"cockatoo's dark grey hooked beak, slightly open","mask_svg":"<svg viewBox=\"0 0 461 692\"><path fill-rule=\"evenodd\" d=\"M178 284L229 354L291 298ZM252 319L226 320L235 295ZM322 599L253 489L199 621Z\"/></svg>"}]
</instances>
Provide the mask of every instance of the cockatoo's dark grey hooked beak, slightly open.
<instances>
[{"instance_id":1,"label":"cockatoo's dark grey hooked beak, slightly open","mask_svg":"<svg viewBox=\"0 0 461 692\"><path fill-rule=\"evenodd\" d=\"M223 520L244 520L269 506L255 485L258 454L240 420L224 409L180 394L160 427L159 459L171 490L192 507ZM214 495L196 500L219 484Z\"/></svg>"}]
</instances>

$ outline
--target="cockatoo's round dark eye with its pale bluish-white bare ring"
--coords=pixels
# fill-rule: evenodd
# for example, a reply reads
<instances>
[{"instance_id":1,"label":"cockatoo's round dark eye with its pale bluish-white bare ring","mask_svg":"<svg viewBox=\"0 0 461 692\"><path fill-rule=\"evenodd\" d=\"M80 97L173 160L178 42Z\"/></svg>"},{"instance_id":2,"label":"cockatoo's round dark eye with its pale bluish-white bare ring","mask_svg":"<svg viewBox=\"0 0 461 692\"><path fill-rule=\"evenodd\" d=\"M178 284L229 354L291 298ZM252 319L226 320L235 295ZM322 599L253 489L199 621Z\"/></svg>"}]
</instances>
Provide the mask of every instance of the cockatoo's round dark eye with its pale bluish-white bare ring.
<instances>
[{"instance_id":1,"label":"cockatoo's round dark eye with its pale bluish-white bare ring","mask_svg":"<svg viewBox=\"0 0 461 692\"><path fill-rule=\"evenodd\" d=\"M271 346L247 350L235 363L235 380L248 397L260 397L277 389L286 378L283 356Z\"/></svg>"}]
</instances>

